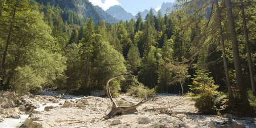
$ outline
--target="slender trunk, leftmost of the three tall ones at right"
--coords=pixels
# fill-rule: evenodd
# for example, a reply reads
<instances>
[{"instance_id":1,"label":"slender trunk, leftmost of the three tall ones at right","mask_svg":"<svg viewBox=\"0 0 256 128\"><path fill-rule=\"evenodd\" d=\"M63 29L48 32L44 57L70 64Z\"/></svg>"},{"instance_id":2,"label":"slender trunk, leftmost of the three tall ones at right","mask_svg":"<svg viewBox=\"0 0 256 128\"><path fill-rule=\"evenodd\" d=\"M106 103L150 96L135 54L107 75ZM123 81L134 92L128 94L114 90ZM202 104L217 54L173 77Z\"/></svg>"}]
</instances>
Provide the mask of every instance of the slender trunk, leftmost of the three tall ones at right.
<instances>
[{"instance_id":1,"label":"slender trunk, leftmost of the three tall ones at right","mask_svg":"<svg viewBox=\"0 0 256 128\"><path fill-rule=\"evenodd\" d=\"M228 69L227 69L227 58L226 58L226 52L225 52L225 44L224 44L224 37L223 37L223 33L222 33L222 25L221 25L221 15L220 15L220 9L219 9L219 4L218 4L218 0L215 0L216 2L216 11L218 14L218 23L219 23L219 32L220 32L220 40L221 40L221 47L222 47L222 54L223 54L223 63L224 63L224 70L225 70L225 76L226 76L226 81L227 81L227 89L228 89L228 96L229 99L233 98L232 95L232 90L231 90L231 83L230 83L230 79L228 76Z\"/></svg>"}]
</instances>

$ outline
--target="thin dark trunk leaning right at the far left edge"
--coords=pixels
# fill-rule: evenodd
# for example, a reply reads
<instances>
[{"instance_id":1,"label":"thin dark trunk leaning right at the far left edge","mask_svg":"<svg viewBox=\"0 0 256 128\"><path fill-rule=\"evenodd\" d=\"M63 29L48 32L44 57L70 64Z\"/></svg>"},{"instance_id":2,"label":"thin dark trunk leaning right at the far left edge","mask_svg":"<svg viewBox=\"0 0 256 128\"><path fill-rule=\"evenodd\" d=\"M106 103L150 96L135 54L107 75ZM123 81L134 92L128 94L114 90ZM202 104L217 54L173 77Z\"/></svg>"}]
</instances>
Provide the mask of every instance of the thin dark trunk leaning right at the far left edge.
<instances>
[{"instance_id":1,"label":"thin dark trunk leaning right at the far left edge","mask_svg":"<svg viewBox=\"0 0 256 128\"><path fill-rule=\"evenodd\" d=\"M3 55L3 60L2 60L2 65L1 65L2 69L1 69L0 77L2 79L0 81L0 84L1 84L2 87L4 87L4 77L5 77L5 73L6 73L5 60L6 60L6 56L7 56L8 47L9 47L9 44L11 42L12 27L13 27L13 23L14 23L14 17L15 17L15 14L16 14L17 5L18 4L16 3L15 8L13 10L12 21L11 21L11 24L10 24L8 37L7 37L7 40L6 40L5 52L4 52L4 55Z\"/></svg>"}]
</instances>

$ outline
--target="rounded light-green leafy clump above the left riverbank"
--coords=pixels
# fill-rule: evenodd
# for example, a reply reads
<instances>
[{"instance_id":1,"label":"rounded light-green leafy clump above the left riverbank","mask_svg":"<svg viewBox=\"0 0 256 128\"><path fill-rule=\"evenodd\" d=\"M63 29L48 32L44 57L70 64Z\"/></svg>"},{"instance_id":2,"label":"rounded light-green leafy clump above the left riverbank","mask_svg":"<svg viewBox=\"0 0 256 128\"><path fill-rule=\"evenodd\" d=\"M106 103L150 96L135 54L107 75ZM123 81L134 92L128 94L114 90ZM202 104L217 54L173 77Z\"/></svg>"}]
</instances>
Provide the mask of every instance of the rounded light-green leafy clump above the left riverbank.
<instances>
[{"instance_id":1,"label":"rounded light-green leafy clump above the left riverbank","mask_svg":"<svg viewBox=\"0 0 256 128\"><path fill-rule=\"evenodd\" d=\"M42 88L56 89L54 80L63 77L66 70L66 58L59 53L35 49L28 51L25 66L18 66L10 81L12 90L19 94L38 92Z\"/></svg>"}]
</instances>

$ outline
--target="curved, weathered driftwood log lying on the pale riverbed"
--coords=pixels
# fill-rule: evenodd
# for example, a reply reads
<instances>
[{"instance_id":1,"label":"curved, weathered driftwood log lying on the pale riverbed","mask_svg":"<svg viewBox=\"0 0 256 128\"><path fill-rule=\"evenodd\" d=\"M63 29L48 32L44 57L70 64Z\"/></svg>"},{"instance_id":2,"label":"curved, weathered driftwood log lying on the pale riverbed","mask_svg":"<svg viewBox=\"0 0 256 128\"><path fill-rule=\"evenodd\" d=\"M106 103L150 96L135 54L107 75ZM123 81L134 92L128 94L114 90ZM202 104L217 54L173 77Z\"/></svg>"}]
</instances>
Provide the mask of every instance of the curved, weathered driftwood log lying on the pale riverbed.
<instances>
[{"instance_id":1,"label":"curved, weathered driftwood log lying on the pale riverbed","mask_svg":"<svg viewBox=\"0 0 256 128\"><path fill-rule=\"evenodd\" d=\"M147 102L148 100L150 99L147 99L145 97L145 99L141 100L139 103L135 104L135 105L132 105L132 106L117 106L116 102L113 100L112 96L111 96L111 93L110 93L110 81L115 79L115 78L118 78L120 76L133 76L133 77L137 77L137 76L134 76L134 75L131 75L129 73L123 73L123 74L119 74L119 75L116 75L112 78L110 78L108 81L106 81L106 91L108 93L108 96L112 102L112 109L110 111L110 113L106 116L104 116L105 119L109 119L115 115L123 115L123 114L126 114L126 113L133 113L133 112L137 112L136 108L140 105L142 105L143 103Z\"/></svg>"}]
</instances>

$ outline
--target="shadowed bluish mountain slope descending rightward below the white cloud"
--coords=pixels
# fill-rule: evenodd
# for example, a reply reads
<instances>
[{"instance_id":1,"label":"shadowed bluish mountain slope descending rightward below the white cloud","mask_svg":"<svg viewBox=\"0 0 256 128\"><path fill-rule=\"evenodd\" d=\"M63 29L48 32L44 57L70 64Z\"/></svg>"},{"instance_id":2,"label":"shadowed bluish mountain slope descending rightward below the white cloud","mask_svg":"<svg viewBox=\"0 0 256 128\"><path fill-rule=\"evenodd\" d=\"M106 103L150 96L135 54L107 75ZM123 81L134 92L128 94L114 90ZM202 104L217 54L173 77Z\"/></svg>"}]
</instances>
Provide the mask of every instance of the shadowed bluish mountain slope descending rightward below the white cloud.
<instances>
[{"instance_id":1,"label":"shadowed bluish mountain slope descending rightward below the white cloud","mask_svg":"<svg viewBox=\"0 0 256 128\"><path fill-rule=\"evenodd\" d=\"M93 18L95 23L104 19L107 22L118 22L118 19L104 12L101 8L95 7L88 0L36 0L38 3L59 6L63 10L71 10L81 17Z\"/></svg>"}]
</instances>

